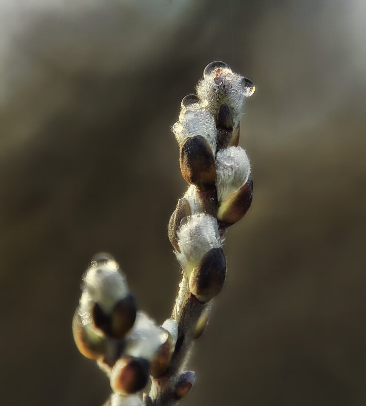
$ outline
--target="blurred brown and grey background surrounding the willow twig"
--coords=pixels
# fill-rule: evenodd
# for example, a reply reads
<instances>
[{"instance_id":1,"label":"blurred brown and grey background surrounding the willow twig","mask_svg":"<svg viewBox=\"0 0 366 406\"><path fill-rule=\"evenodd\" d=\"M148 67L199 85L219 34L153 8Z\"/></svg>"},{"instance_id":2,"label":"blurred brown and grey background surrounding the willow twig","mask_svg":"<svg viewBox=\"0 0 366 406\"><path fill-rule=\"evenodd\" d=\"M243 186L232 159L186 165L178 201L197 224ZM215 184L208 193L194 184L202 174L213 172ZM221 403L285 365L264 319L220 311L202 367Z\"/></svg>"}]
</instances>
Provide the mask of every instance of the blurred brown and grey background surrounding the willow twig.
<instances>
[{"instance_id":1,"label":"blurred brown and grey background surrounding the willow twig","mask_svg":"<svg viewBox=\"0 0 366 406\"><path fill-rule=\"evenodd\" d=\"M71 332L95 252L170 316L186 189L170 128L213 60L256 84L254 199L182 404L366 404L365 25L362 0L0 1L3 404L108 397Z\"/></svg>"}]
</instances>

